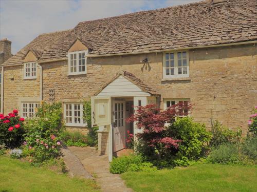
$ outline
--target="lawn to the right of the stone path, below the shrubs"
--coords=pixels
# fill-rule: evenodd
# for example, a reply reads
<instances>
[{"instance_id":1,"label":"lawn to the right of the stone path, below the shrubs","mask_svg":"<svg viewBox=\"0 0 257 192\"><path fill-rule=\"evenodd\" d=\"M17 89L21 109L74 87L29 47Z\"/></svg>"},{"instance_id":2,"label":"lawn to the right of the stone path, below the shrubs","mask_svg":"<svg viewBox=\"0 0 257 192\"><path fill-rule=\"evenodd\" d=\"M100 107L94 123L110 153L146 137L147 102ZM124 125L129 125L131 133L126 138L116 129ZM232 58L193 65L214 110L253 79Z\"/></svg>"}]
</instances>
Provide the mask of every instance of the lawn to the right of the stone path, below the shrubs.
<instances>
[{"instance_id":1,"label":"lawn to the right of the stone path, below the shrubs","mask_svg":"<svg viewBox=\"0 0 257 192\"><path fill-rule=\"evenodd\" d=\"M197 164L187 168L157 172L122 174L126 185L139 191L256 191L257 167L221 164Z\"/></svg>"}]
</instances>

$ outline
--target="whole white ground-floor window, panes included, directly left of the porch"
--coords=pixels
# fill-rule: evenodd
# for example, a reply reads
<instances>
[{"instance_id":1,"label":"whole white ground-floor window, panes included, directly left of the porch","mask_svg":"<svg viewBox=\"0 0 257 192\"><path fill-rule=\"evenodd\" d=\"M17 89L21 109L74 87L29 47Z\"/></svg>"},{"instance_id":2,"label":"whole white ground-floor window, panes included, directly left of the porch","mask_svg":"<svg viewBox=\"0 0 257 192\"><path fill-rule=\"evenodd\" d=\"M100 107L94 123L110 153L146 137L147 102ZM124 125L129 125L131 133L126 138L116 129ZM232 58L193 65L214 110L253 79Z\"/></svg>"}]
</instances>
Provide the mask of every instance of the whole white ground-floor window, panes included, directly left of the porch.
<instances>
[{"instance_id":1,"label":"whole white ground-floor window, panes included, directly left of the porch","mask_svg":"<svg viewBox=\"0 0 257 192\"><path fill-rule=\"evenodd\" d=\"M65 103L64 119L67 126L86 126L83 119L83 103Z\"/></svg>"}]
</instances>

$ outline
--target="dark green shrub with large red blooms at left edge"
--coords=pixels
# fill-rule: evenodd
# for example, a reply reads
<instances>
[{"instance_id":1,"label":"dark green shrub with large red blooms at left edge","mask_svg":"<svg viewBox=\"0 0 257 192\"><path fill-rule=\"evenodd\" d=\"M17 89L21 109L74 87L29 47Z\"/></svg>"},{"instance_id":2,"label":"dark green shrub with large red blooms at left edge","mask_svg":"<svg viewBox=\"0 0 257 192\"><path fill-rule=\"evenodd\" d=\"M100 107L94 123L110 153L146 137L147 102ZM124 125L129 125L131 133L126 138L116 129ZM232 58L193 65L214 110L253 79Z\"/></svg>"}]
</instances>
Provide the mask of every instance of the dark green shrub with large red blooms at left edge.
<instances>
[{"instance_id":1,"label":"dark green shrub with large red blooms at left edge","mask_svg":"<svg viewBox=\"0 0 257 192\"><path fill-rule=\"evenodd\" d=\"M0 144L7 147L17 147L23 142L24 118L21 118L17 110L13 110L8 115L0 114Z\"/></svg>"}]
</instances>

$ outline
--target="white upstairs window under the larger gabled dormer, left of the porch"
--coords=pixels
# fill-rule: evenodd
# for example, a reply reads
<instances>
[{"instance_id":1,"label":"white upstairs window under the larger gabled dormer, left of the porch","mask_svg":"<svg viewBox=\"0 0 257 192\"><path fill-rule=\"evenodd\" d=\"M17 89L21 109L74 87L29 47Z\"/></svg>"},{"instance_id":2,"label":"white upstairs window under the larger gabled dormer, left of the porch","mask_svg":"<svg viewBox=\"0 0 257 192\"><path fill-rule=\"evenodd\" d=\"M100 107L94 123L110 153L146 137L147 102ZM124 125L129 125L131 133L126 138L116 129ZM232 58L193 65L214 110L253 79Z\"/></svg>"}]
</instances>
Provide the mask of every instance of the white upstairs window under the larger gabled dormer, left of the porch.
<instances>
[{"instance_id":1,"label":"white upstairs window under the larger gabled dormer, left of the porch","mask_svg":"<svg viewBox=\"0 0 257 192\"><path fill-rule=\"evenodd\" d=\"M69 75L86 74L86 55L88 51L68 53Z\"/></svg>"}]
</instances>

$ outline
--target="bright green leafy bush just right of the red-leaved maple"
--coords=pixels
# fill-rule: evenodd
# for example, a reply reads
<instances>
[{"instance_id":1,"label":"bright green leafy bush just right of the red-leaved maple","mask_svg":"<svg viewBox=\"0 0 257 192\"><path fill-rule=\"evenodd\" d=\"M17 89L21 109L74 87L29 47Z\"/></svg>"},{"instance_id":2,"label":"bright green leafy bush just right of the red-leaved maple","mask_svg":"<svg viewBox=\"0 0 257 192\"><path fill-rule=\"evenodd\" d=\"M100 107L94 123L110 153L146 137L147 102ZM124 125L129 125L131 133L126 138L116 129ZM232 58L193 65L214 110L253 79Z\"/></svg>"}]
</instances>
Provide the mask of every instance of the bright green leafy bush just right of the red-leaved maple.
<instances>
[{"instance_id":1,"label":"bright green leafy bush just right of the red-leaved maple","mask_svg":"<svg viewBox=\"0 0 257 192\"><path fill-rule=\"evenodd\" d=\"M177 118L167 131L170 137L181 140L175 157L171 157L176 165L189 165L190 161L205 155L207 144L211 139L205 124L194 122L190 117Z\"/></svg>"}]
</instances>

